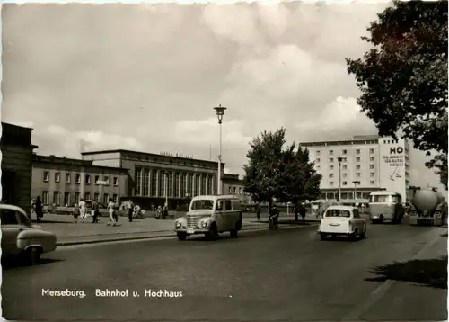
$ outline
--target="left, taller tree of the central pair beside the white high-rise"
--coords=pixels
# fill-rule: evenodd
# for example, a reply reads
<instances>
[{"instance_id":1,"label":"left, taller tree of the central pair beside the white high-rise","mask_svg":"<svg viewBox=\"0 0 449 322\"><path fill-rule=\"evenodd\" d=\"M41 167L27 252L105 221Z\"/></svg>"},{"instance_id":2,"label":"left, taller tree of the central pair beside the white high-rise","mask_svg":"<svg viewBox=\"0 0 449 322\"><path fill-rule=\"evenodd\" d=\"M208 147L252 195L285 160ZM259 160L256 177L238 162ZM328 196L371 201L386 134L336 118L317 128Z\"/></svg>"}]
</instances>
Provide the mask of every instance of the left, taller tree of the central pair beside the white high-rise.
<instances>
[{"instance_id":1,"label":"left, taller tree of the central pair beside the white high-rise","mask_svg":"<svg viewBox=\"0 0 449 322\"><path fill-rule=\"evenodd\" d=\"M248 165L244 165L244 190L251 194L255 201L268 201L269 209L273 198L282 198L279 186L282 175L283 147L286 143L286 130L275 132L263 131L260 137L252 139L248 157Z\"/></svg>"}]
</instances>

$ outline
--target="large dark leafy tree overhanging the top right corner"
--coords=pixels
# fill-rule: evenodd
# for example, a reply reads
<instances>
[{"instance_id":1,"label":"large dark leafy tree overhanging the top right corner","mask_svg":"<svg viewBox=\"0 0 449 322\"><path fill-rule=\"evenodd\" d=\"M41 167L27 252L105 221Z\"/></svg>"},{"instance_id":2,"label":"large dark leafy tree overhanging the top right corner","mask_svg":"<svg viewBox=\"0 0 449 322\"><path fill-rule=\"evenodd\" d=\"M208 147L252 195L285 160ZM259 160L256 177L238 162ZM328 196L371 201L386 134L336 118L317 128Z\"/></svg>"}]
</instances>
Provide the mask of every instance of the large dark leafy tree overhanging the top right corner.
<instances>
[{"instance_id":1,"label":"large dark leafy tree overhanging the top right corner","mask_svg":"<svg viewBox=\"0 0 449 322\"><path fill-rule=\"evenodd\" d=\"M368 27L373 46L363 58L347 58L362 94L357 103L381 136L411 139L414 148L436 150L427 162L447 190L447 2L393 2Z\"/></svg>"}]
</instances>

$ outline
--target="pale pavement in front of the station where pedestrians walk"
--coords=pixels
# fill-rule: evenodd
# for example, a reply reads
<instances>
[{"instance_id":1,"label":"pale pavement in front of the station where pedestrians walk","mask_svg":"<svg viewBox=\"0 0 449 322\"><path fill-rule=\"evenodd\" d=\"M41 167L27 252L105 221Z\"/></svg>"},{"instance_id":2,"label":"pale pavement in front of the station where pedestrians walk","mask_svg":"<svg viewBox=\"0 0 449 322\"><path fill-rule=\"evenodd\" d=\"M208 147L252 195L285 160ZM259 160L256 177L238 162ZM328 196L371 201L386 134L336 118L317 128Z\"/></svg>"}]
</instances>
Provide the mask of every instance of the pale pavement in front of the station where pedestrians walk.
<instances>
[{"instance_id":1,"label":"pale pavement in front of the station where pedestrians walk","mask_svg":"<svg viewBox=\"0 0 449 322\"><path fill-rule=\"evenodd\" d=\"M291 224L293 219L295 219L294 215L281 214L280 228L285 228L283 222ZM316 223L318 220L312 215L305 218L307 224ZM99 223L92 224L92 217L88 217L84 223L75 223L72 216L46 214L38 225L57 235L57 246L176 236L173 232L174 220L172 219L145 218L133 219L133 222L128 222L128 218L119 217L119 225L115 227L107 226L108 221L108 218L101 217ZM299 222L293 224L303 223L303 220L300 219ZM268 229L266 214L260 216L259 222L254 214L243 215L242 230L254 229Z\"/></svg>"}]
</instances>

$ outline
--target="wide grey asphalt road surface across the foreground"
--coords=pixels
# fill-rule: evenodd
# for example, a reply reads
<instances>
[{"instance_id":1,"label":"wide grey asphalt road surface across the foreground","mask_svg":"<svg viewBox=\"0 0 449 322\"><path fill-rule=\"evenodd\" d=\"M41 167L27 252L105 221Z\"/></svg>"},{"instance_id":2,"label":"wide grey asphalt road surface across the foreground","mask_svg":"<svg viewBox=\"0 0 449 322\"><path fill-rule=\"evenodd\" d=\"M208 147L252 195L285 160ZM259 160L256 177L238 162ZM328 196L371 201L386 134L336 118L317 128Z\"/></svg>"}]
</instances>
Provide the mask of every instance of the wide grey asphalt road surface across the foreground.
<instances>
[{"instance_id":1,"label":"wide grey asphalt road surface across the foreground","mask_svg":"<svg viewBox=\"0 0 449 322\"><path fill-rule=\"evenodd\" d=\"M60 247L38 266L3 271L3 316L54 321L446 320L445 232L368 225L363 240L320 241L316 227L302 227L242 232L235 239L224 234L213 242L198 237ZM42 289L86 295L47 297ZM128 297L96 297L95 289L128 289ZM145 297L145 290L182 292L182 297Z\"/></svg>"}]
</instances>

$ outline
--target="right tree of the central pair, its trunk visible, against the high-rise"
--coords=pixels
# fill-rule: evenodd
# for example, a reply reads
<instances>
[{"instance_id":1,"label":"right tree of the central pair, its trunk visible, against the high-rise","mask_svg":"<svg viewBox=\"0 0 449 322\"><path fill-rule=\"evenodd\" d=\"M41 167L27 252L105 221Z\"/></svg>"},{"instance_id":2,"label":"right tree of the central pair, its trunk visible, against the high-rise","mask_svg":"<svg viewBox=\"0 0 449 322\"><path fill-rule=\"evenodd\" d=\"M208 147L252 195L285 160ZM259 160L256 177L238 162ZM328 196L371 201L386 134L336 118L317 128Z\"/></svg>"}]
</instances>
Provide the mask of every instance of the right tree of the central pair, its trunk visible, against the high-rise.
<instances>
[{"instance_id":1,"label":"right tree of the central pair, its trunk visible, against the high-rise","mask_svg":"<svg viewBox=\"0 0 449 322\"><path fill-rule=\"evenodd\" d=\"M313 162L309 158L309 150L295 143L284 152L284 169L281 187L286 201L292 201L295 205L295 220L298 220L299 201L314 200L320 195L321 174L317 174L313 168Z\"/></svg>"}]
</instances>

